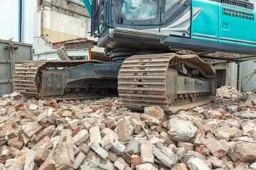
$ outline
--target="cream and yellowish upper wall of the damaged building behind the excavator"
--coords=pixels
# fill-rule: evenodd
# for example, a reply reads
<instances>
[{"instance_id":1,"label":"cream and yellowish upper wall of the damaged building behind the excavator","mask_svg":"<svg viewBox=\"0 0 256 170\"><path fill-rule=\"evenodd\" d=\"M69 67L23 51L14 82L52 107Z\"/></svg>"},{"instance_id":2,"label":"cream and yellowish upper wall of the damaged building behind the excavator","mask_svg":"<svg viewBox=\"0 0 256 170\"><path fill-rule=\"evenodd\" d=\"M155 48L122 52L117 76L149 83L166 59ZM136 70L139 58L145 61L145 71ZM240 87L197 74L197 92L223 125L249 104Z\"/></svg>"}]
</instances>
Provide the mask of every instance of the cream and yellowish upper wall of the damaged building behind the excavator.
<instances>
[{"instance_id":1,"label":"cream and yellowish upper wall of the damaged building behind the excavator","mask_svg":"<svg viewBox=\"0 0 256 170\"><path fill-rule=\"evenodd\" d=\"M52 42L90 38L90 16L85 6L67 0L45 0L41 35Z\"/></svg>"}]
</instances>

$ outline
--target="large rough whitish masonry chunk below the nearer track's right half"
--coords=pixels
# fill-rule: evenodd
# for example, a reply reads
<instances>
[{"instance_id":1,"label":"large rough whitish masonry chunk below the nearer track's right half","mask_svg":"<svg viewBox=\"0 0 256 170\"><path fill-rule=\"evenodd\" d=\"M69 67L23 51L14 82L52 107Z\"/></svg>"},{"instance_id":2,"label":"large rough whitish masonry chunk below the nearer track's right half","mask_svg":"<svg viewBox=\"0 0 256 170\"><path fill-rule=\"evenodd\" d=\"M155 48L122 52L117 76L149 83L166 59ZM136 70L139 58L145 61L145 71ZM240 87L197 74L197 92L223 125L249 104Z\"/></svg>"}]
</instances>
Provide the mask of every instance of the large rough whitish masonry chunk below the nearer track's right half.
<instances>
[{"instance_id":1,"label":"large rough whitish masonry chunk below the nearer track's right half","mask_svg":"<svg viewBox=\"0 0 256 170\"><path fill-rule=\"evenodd\" d=\"M197 128L190 121L175 120L169 121L169 135L172 140L189 141L196 135Z\"/></svg>"}]
</instances>

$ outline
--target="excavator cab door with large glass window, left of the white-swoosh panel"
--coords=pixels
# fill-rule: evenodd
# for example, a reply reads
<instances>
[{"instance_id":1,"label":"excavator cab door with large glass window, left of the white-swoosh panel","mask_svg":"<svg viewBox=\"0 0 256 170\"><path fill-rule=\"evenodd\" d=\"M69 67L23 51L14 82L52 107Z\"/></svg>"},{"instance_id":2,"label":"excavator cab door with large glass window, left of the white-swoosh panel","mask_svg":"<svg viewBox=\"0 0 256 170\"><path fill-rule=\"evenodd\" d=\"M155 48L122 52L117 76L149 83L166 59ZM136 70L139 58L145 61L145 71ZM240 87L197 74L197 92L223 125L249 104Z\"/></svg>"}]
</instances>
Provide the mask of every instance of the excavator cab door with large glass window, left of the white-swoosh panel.
<instances>
[{"instance_id":1,"label":"excavator cab door with large glass window, left of the white-swoosh panel","mask_svg":"<svg viewBox=\"0 0 256 170\"><path fill-rule=\"evenodd\" d=\"M112 0L112 27L159 32L159 0Z\"/></svg>"}]
</instances>

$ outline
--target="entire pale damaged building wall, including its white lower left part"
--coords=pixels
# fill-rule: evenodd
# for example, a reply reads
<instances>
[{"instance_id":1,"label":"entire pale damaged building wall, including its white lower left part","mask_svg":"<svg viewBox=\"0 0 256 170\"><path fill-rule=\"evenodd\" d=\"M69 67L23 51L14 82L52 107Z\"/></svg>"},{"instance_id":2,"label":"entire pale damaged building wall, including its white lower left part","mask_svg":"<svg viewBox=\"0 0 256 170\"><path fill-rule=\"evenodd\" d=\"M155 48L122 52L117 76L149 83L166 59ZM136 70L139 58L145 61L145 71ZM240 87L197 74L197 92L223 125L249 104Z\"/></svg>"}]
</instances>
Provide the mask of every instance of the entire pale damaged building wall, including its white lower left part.
<instances>
[{"instance_id":1,"label":"entire pale damaged building wall, including its white lower left part","mask_svg":"<svg viewBox=\"0 0 256 170\"><path fill-rule=\"evenodd\" d=\"M60 60L54 42L90 37L90 16L80 0L43 0L35 12L34 60ZM92 55L105 58L103 48L92 47Z\"/></svg>"}]
</instances>

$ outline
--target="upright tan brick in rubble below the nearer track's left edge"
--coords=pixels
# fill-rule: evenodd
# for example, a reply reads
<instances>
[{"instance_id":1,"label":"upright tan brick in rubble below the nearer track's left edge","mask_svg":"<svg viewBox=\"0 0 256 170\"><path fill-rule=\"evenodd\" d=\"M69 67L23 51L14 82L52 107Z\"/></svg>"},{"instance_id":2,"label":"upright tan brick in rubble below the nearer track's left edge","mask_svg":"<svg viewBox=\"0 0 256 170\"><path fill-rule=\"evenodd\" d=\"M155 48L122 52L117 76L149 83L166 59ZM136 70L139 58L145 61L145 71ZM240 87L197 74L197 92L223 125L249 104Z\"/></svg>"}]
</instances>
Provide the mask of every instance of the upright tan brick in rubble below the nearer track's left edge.
<instances>
[{"instance_id":1,"label":"upright tan brick in rubble below the nearer track's left edge","mask_svg":"<svg viewBox=\"0 0 256 170\"><path fill-rule=\"evenodd\" d=\"M119 120L117 123L118 137L121 142L127 142L130 140L129 128L126 120Z\"/></svg>"}]
</instances>

